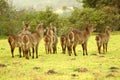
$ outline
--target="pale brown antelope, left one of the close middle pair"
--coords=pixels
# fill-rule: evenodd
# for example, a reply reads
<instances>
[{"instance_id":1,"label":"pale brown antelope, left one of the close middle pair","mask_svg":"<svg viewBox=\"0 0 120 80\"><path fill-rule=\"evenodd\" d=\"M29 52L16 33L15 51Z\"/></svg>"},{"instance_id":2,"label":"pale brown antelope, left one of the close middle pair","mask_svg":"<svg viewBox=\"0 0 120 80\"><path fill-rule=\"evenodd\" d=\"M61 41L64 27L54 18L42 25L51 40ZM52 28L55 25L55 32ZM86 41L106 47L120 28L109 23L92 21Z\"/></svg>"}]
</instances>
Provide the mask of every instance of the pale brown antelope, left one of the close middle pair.
<instances>
[{"instance_id":1,"label":"pale brown antelope, left one of the close middle pair","mask_svg":"<svg viewBox=\"0 0 120 80\"><path fill-rule=\"evenodd\" d=\"M52 53L53 30L51 28L47 29L47 33L44 37L44 42L46 54Z\"/></svg>"}]
</instances>

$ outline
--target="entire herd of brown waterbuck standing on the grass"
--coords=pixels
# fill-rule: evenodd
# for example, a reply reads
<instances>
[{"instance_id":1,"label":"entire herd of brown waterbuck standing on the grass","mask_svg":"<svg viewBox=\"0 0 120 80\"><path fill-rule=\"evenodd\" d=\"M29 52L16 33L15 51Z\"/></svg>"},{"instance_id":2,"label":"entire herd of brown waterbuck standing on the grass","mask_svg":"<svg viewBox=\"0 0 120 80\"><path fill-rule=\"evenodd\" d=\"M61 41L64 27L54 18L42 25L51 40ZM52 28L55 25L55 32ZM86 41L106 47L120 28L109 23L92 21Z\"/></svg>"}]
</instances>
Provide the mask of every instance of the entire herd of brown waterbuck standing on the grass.
<instances>
[{"instance_id":1,"label":"entire herd of brown waterbuck standing on the grass","mask_svg":"<svg viewBox=\"0 0 120 80\"><path fill-rule=\"evenodd\" d=\"M10 45L12 57L14 57L14 49L19 48L19 56L29 59L29 56L34 58L34 53L36 53L36 58L38 58L38 46L40 41L44 40L44 46L46 54L57 53L57 28L50 24L50 27L45 27L43 23L37 25L34 32L30 31L30 23L23 22L24 29L16 35L10 35L8 37L8 43ZM90 22L87 24L84 30L78 30L70 27L67 34L60 36L60 43L62 47L62 52L65 54L66 50L71 56L72 53L76 54L76 47L78 44L82 45L83 55L88 55L87 52L87 42L93 31L93 24ZM111 28L106 27L105 33L100 33L96 35L96 43L98 47L99 54L101 53L101 47L103 46L103 52L107 52L107 46L110 38ZM73 51L73 52L72 52ZM32 53L32 54L31 54Z\"/></svg>"}]
</instances>

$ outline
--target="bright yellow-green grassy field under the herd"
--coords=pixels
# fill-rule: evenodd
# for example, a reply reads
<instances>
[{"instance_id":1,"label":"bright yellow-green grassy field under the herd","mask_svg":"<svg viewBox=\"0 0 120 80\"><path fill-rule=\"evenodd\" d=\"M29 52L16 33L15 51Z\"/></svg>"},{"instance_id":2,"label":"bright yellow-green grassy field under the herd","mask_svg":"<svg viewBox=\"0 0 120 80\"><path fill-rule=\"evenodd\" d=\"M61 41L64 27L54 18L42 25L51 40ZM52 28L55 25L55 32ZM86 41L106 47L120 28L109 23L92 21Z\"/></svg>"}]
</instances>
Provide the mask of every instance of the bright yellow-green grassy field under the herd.
<instances>
[{"instance_id":1,"label":"bright yellow-green grassy field under the herd","mask_svg":"<svg viewBox=\"0 0 120 80\"><path fill-rule=\"evenodd\" d=\"M120 80L120 35L110 38L108 53L98 54L95 36L88 41L88 56L82 55L77 46L77 55L61 53L45 54L44 42L39 45L39 58L29 60L11 57L7 39L0 40L0 80Z\"/></svg>"}]
</instances>

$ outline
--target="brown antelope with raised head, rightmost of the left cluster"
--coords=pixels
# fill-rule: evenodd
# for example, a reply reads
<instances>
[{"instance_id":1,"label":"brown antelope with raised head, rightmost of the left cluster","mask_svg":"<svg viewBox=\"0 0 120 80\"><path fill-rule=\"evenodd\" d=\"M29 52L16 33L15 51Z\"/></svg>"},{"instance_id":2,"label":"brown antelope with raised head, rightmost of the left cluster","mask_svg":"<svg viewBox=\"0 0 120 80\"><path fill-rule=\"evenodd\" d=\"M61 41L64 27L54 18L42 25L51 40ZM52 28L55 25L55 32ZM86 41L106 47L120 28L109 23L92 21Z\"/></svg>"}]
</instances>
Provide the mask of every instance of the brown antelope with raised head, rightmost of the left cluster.
<instances>
[{"instance_id":1,"label":"brown antelope with raised head, rightmost of the left cluster","mask_svg":"<svg viewBox=\"0 0 120 80\"><path fill-rule=\"evenodd\" d=\"M36 27L36 30L30 35L30 40L33 45L32 58L34 58L34 50L36 52L36 58L38 58L38 46L43 36L44 36L44 25L43 23L41 23L41 24L38 24L38 26Z\"/></svg>"}]
</instances>

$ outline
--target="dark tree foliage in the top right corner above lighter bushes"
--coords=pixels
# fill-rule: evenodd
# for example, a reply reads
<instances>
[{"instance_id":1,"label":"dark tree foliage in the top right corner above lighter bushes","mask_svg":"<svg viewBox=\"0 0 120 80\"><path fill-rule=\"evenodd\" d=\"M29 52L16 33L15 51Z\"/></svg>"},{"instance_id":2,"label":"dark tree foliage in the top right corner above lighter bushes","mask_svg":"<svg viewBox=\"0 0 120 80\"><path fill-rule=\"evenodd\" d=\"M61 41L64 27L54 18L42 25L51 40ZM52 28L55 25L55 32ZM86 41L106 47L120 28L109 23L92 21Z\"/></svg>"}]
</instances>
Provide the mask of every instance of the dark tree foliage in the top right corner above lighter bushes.
<instances>
[{"instance_id":1,"label":"dark tree foliage in the top right corner above lighter bushes","mask_svg":"<svg viewBox=\"0 0 120 80\"><path fill-rule=\"evenodd\" d=\"M77 0L80 1L80 0ZM119 0L82 0L83 7L102 9L105 6L114 7L120 13Z\"/></svg>"}]
</instances>

